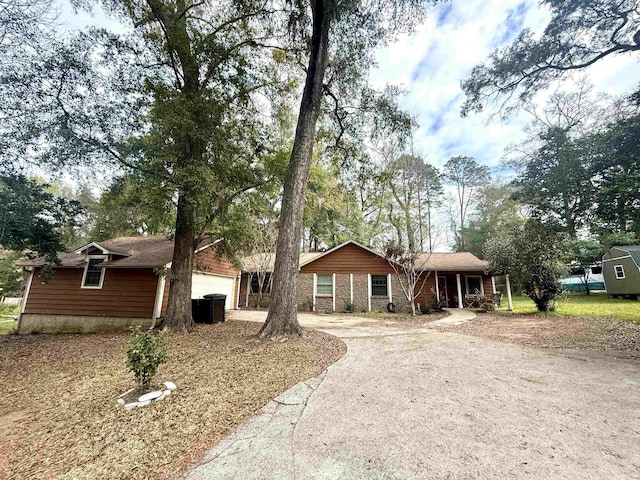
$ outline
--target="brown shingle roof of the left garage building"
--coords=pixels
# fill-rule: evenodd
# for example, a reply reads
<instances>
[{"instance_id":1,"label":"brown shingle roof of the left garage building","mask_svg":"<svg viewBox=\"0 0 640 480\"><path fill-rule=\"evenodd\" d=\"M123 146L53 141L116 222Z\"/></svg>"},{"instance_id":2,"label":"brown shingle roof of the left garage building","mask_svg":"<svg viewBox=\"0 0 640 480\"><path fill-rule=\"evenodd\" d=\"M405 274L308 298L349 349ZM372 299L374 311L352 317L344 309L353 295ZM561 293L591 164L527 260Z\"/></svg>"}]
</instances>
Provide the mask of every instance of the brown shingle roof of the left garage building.
<instances>
[{"instance_id":1,"label":"brown shingle roof of the left garage building","mask_svg":"<svg viewBox=\"0 0 640 480\"><path fill-rule=\"evenodd\" d=\"M203 240L196 251L201 251L218 243L221 239ZM173 258L173 240L165 237L117 237L102 242L90 242L73 253L59 253L58 267L84 267L86 252L95 247L111 260L100 264L106 268L161 268L171 263ZM21 266L39 267L44 265L43 258L22 262ZM55 265L53 265L55 267Z\"/></svg>"}]
</instances>

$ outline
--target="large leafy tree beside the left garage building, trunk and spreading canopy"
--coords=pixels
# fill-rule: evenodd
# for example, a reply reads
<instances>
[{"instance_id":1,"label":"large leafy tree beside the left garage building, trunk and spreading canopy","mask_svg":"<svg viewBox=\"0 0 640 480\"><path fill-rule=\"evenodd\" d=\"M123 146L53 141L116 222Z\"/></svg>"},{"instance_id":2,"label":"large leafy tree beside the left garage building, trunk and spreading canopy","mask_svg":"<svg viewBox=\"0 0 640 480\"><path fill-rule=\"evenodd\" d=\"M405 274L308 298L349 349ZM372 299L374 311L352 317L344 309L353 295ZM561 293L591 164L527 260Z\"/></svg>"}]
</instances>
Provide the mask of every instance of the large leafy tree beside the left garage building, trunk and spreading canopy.
<instances>
[{"instance_id":1,"label":"large leafy tree beside the left garage building, trunk and spreading canopy","mask_svg":"<svg viewBox=\"0 0 640 480\"><path fill-rule=\"evenodd\" d=\"M126 34L52 39L25 67L2 69L4 154L48 167L107 162L154 178L145 186L176 212L166 326L190 329L194 247L262 181L259 112L268 87L286 82L260 42L284 30L286 15L270 2L101 3Z\"/></svg>"}]
</instances>

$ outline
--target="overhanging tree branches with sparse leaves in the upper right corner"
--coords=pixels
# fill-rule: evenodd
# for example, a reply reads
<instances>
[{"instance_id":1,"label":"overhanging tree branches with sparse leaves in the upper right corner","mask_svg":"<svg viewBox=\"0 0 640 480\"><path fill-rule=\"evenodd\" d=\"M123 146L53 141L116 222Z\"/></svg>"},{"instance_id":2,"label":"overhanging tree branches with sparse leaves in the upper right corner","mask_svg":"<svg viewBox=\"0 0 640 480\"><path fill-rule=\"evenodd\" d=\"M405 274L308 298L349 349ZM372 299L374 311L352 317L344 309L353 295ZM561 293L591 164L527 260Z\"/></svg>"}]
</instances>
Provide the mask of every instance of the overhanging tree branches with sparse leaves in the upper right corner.
<instances>
[{"instance_id":1,"label":"overhanging tree branches with sparse leaves in the upper right corner","mask_svg":"<svg viewBox=\"0 0 640 480\"><path fill-rule=\"evenodd\" d=\"M543 0L551 20L541 36L523 30L462 81L462 115L491 100L508 115L553 80L609 55L640 51L638 0Z\"/></svg>"}]
</instances>

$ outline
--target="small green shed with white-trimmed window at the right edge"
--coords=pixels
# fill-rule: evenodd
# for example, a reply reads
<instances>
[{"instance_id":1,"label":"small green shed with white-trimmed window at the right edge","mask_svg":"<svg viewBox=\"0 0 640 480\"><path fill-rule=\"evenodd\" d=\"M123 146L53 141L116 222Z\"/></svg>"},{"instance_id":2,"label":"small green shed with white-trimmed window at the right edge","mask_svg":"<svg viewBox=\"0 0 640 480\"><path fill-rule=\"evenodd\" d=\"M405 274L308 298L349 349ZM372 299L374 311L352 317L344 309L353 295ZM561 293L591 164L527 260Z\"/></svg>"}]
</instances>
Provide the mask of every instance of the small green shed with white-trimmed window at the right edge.
<instances>
[{"instance_id":1,"label":"small green shed with white-trimmed window at the right edge","mask_svg":"<svg viewBox=\"0 0 640 480\"><path fill-rule=\"evenodd\" d=\"M609 295L638 298L640 295L640 245L612 247L602 257L602 275Z\"/></svg>"}]
</instances>

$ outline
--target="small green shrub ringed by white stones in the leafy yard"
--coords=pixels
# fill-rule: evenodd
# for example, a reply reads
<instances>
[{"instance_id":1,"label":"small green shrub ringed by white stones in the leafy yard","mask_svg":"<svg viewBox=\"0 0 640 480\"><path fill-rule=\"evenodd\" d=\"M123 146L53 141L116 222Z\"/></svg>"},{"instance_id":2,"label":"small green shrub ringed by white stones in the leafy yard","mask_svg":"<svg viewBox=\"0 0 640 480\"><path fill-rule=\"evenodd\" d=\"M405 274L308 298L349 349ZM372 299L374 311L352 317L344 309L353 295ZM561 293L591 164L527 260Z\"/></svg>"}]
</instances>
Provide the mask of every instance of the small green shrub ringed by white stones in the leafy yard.
<instances>
[{"instance_id":1,"label":"small green shrub ringed by white stones in the leafy yard","mask_svg":"<svg viewBox=\"0 0 640 480\"><path fill-rule=\"evenodd\" d=\"M158 372L158 366L167 361L167 346L162 334L131 327L127 344L127 367L133 372L140 388L147 388Z\"/></svg>"}]
</instances>

